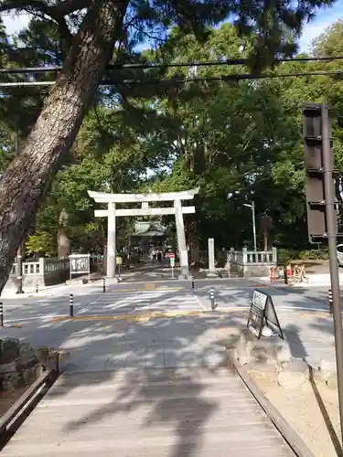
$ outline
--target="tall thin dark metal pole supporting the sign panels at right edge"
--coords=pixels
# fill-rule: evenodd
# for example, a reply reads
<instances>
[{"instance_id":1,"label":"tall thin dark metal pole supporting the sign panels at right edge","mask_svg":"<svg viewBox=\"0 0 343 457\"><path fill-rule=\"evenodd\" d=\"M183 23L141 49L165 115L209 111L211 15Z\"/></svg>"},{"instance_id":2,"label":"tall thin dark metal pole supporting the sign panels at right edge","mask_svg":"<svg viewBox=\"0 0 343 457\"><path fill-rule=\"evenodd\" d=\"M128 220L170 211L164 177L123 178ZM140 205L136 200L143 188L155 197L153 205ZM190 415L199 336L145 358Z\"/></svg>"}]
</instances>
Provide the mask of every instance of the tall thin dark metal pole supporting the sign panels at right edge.
<instances>
[{"instance_id":1,"label":"tall thin dark metal pole supporting the sign panels at right edge","mask_svg":"<svg viewBox=\"0 0 343 457\"><path fill-rule=\"evenodd\" d=\"M338 402L341 436L343 437L343 328L340 310L340 291L337 261L337 222L336 222L336 193L333 180L333 154L331 151L331 132L327 104L322 105L322 141L324 188L327 212L327 239L332 290L332 309L334 317L336 364L338 377Z\"/></svg>"}]
</instances>

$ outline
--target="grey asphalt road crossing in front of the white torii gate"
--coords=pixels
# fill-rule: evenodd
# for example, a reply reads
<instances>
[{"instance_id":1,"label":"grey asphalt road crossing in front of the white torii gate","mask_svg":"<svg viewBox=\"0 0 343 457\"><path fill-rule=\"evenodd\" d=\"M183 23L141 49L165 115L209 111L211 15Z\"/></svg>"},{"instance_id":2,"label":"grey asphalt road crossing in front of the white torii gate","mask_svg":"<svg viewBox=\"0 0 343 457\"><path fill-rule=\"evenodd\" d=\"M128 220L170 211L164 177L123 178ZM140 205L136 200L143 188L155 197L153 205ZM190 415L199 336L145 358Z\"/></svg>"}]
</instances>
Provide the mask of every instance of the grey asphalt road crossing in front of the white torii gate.
<instances>
[{"instance_id":1,"label":"grey asphalt road crossing in front of the white torii gate","mask_svg":"<svg viewBox=\"0 0 343 457\"><path fill-rule=\"evenodd\" d=\"M210 309L209 289L221 310L245 308L250 305L252 291L258 287L273 297L276 308L287 310L328 309L327 289L323 287L291 288L261 285L243 279L159 281L65 286L51 296L35 295L3 299L7 322L51 318L70 313L70 293L73 294L74 314L133 314L146 311L185 311Z\"/></svg>"}]
</instances>

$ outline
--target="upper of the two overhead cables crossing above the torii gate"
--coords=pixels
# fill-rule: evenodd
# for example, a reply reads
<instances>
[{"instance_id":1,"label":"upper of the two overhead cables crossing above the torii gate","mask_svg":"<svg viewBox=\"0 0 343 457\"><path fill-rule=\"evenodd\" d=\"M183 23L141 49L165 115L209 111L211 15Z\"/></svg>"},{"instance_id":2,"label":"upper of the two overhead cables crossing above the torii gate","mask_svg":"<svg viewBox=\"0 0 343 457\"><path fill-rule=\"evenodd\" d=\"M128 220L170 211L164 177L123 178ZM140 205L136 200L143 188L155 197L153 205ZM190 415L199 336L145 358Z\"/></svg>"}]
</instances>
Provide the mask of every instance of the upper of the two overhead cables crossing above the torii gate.
<instances>
[{"instance_id":1,"label":"upper of the two overhead cables crossing above the torii gate","mask_svg":"<svg viewBox=\"0 0 343 457\"><path fill-rule=\"evenodd\" d=\"M304 58L275 58L273 63L287 62L316 62L316 61L334 61L343 60L343 56L327 56L327 57L304 57ZM107 66L108 70L120 69L172 69L182 67L232 67L236 65L249 66L251 61L249 58L228 58L226 60L209 60L204 62L175 62L175 63L116 63ZM33 73L58 73L62 67L47 66L47 67L24 67L19 69L0 69L0 74L33 74Z\"/></svg>"}]
</instances>

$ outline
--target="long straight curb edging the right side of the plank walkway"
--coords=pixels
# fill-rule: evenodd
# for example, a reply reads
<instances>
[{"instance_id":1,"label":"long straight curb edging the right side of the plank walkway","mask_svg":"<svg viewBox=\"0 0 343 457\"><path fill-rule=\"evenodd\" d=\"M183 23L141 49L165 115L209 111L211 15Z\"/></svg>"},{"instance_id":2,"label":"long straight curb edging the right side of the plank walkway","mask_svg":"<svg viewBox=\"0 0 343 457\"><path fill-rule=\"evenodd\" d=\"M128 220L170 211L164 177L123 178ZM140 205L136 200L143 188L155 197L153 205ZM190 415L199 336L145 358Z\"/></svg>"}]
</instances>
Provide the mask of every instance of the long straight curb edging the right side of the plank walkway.
<instances>
[{"instance_id":1,"label":"long straight curb edging the right side of the plank walkway","mask_svg":"<svg viewBox=\"0 0 343 457\"><path fill-rule=\"evenodd\" d=\"M293 452L295 452L295 455L297 457L315 457L315 455L307 448L305 442L297 435L295 430L286 420L284 420L284 417L280 414L278 409L273 406L260 388L257 387L257 384L253 381L252 377L245 370L245 368L239 365L233 351L228 350L228 361L229 367L238 373L245 386L252 393L254 399L256 399L269 419L272 420L275 428L284 437L284 440L287 441Z\"/></svg>"}]
</instances>

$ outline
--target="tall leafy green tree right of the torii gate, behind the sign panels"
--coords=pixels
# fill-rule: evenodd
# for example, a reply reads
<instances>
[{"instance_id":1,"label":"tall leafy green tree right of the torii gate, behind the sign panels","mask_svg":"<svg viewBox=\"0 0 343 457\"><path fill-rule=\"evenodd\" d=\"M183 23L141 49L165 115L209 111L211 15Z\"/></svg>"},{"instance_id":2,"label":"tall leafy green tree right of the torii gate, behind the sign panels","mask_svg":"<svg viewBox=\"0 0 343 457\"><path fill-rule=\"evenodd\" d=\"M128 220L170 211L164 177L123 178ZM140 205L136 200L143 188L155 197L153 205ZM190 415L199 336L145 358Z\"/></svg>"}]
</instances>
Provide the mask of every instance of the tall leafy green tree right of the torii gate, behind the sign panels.
<instances>
[{"instance_id":1,"label":"tall leafy green tree right of the torii gate, behind the sign panels","mask_svg":"<svg viewBox=\"0 0 343 457\"><path fill-rule=\"evenodd\" d=\"M321 55L338 52L337 47L330 51L326 43L339 43L339 28L338 23L319 38L326 48ZM175 62L225 60L244 56L249 46L244 51L241 38L229 25L214 31L204 47L194 37L184 37L175 30L164 47L164 56ZM317 48L315 44L316 54ZM276 72L282 75L326 69L339 69L339 62L285 63ZM179 76L185 76L185 71L173 70ZM197 76L216 77L235 71L246 69L211 67L198 69ZM335 158L341 170L340 84L332 77L308 76L240 84L190 82L174 94L155 99L158 110L170 121L151 133L151 146L165 148L173 161L149 186L156 191L200 186L197 215L189 218L188 224L191 242L205 247L207 238L215 236L220 246L241 246L252 239L252 215L243 204L253 199L258 228L265 214L273 220L270 242L305 248L302 108L306 101L329 101L334 108ZM259 231L263 231L262 226Z\"/></svg>"}]
</instances>

